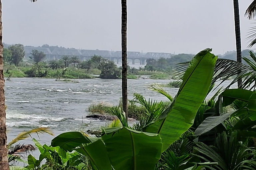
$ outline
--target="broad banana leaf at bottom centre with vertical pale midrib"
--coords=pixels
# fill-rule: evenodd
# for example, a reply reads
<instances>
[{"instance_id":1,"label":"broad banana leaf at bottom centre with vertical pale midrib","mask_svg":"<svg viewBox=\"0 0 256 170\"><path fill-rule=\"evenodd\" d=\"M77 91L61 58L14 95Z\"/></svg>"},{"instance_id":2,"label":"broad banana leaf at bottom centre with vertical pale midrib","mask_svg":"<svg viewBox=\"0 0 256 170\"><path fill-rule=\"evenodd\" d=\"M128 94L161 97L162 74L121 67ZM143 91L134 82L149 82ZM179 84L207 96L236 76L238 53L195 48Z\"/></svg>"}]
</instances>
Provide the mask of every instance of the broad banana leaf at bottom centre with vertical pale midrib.
<instances>
[{"instance_id":1,"label":"broad banana leaf at bottom centre with vertical pale midrib","mask_svg":"<svg viewBox=\"0 0 256 170\"><path fill-rule=\"evenodd\" d=\"M135 131L125 127L103 128L102 139L115 170L154 169L161 157L159 134Z\"/></svg>"}]
</instances>

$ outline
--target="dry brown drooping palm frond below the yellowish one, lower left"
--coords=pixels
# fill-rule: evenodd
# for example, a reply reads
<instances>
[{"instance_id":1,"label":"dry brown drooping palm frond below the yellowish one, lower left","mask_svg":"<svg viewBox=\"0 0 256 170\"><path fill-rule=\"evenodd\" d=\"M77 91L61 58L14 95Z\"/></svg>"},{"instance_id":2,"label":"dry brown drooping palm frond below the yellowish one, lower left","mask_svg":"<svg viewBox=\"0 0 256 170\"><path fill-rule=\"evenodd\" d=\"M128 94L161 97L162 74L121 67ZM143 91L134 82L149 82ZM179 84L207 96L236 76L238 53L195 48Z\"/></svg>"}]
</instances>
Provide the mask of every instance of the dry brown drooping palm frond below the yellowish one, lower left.
<instances>
[{"instance_id":1,"label":"dry brown drooping palm frond below the yellowish one, lower left","mask_svg":"<svg viewBox=\"0 0 256 170\"><path fill-rule=\"evenodd\" d=\"M15 156L21 156L23 154L27 154L28 152L35 151L35 146L31 144L16 144L14 146L9 147L8 154L9 155L15 155Z\"/></svg>"}]
</instances>

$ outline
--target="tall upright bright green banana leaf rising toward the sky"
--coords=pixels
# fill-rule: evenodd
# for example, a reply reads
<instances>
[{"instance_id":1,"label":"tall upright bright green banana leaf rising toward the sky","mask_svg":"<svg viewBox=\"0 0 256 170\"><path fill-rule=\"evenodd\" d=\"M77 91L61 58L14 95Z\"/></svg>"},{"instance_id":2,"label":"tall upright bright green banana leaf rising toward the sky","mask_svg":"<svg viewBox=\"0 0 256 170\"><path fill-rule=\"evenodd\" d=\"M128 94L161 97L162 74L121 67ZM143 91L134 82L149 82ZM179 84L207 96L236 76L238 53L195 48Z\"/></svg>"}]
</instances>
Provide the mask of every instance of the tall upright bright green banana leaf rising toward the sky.
<instances>
[{"instance_id":1,"label":"tall upright bright green banana leaf rising toward the sky","mask_svg":"<svg viewBox=\"0 0 256 170\"><path fill-rule=\"evenodd\" d=\"M210 51L205 49L191 60L182 85L167 108L169 112L164 112L155 124L144 128L146 132L160 134L162 152L193 125L197 110L208 93L217 60Z\"/></svg>"}]
</instances>

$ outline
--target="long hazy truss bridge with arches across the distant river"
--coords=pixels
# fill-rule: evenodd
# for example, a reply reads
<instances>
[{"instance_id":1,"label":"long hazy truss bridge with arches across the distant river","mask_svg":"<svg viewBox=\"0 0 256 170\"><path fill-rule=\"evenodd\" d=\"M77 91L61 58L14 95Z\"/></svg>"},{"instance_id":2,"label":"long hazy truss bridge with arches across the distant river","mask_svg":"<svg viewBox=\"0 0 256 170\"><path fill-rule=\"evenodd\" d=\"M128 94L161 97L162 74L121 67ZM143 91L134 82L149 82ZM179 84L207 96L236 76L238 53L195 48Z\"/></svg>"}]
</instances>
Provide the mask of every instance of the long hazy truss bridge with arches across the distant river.
<instances>
[{"instance_id":1,"label":"long hazy truss bridge with arches across the distant river","mask_svg":"<svg viewBox=\"0 0 256 170\"><path fill-rule=\"evenodd\" d=\"M51 51L49 48L42 47L24 47L25 48L25 58L29 58L31 56L32 50L43 51L46 55L46 60L58 60L61 59L62 56L78 56L81 61L85 61L90 59L93 55L100 55L103 58L107 58L111 61L122 62L122 51L108 51L108 50L91 50L91 49L66 49L66 48L55 48ZM127 60L128 62L139 62L141 65L145 65L145 61L147 59L159 59L161 57L171 58L173 54L164 53L164 52L137 52L137 51L127 51Z\"/></svg>"}]
</instances>

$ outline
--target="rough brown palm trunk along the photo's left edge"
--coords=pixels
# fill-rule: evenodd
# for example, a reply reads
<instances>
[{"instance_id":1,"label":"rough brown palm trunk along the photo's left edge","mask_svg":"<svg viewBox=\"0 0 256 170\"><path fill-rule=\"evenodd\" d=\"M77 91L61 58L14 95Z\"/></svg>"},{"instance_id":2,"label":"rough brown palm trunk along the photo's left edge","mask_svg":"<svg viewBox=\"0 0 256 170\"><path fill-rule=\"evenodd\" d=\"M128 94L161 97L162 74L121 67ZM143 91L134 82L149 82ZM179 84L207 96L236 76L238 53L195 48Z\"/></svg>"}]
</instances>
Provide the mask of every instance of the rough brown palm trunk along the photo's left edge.
<instances>
[{"instance_id":1,"label":"rough brown palm trunk along the photo's left edge","mask_svg":"<svg viewBox=\"0 0 256 170\"><path fill-rule=\"evenodd\" d=\"M2 26L2 1L0 0L0 169L9 170L6 147L6 114L4 95L4 63L3 63L3 26Z\"/></svg>"}]
</instances>

